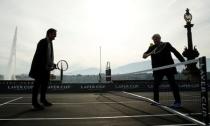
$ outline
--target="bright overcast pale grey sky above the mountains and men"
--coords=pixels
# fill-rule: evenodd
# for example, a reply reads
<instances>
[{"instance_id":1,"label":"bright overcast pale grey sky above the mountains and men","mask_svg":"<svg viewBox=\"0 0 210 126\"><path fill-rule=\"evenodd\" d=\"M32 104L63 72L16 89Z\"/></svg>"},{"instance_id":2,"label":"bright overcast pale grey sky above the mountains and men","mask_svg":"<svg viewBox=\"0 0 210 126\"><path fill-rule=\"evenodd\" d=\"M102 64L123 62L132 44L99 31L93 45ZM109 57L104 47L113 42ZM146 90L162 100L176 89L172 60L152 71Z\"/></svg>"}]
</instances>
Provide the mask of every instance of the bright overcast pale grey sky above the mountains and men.
<instances>
[{"instance_id":1,"label":"bright overcast pale grey sky above the mountains and men","mask_svg":"<svg viewBox=\"0 0 210 126\"><path fill-rule=\"evenodd\" d=\"M154 33L183 52L187 45L186 8L193 15L193 44L210 57L209 0L0 0L0 74L7 70L15 27L17 73L28 73L38 41L48 28L57 29L55 61L67 60L70 70L116 68L144 61Z\"/></svg>"}]
</instances>

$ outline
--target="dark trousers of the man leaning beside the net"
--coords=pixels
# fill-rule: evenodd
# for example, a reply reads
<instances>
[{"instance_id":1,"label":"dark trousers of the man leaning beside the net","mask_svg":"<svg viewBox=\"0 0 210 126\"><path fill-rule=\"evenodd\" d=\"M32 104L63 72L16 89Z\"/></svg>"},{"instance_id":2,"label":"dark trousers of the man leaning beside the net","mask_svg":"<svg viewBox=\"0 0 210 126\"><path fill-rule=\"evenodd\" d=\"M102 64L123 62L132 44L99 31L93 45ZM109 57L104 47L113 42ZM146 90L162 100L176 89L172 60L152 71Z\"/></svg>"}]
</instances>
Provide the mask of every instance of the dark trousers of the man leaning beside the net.
<instances>
[{"instance_id":1,"label":"dark trousers of the man leaning beside the net","mask_svg":"<svg viewBox=\"0 0 210 126\"><path fill-rule=\"evenodd\" d=\"M179 95L179 87L175 83L175 77L174 74L157 74L154 75L154 87L153 87L153 92L154 92L154 101L159 102L159 85L161 84L161 81L163 80L163 77L166 76L168 79L168 82L170 84L170 87L173 91L174 99L176 102L181 103L180 95Z\"/></svg>"}]
</instances>

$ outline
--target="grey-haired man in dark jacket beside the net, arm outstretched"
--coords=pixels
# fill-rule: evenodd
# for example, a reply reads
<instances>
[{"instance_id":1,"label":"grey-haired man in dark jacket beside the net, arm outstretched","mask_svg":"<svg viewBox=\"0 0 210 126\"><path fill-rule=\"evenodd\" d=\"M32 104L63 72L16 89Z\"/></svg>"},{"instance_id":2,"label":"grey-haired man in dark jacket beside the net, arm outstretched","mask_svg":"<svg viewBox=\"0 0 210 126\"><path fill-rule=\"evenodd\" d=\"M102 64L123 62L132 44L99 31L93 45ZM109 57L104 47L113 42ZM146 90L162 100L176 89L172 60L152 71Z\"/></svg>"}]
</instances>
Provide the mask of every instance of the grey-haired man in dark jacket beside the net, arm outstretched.
<instances>
[{"instance_id":1,"label":"grey-haired man in dark jacket beside the net, arm outstretched","mask_svg":"<svg viewBox=\"0 0 210 126\"><path fill-rule=\"evenodd\" d=\"M151 56L152 68L174 64L174 61L171 56L171 52L179 59L180 62L185 61L182 55L169 42L161 42L161 36L159 34L154 34L152 36L152 39L154 41L154 45L152 44L149 47L149 49L143 54L143 58L147 58L148 56ZM162 46L161 49L159 48L160 46ZM170 84L170 87L173 90L173 95L175 99L175 102L172 105L172 107L176 107L176 108L181 107L179 87L175 83L174 75L176 73L177 73L177 70L175 67L153 71L154 101L159 102L159 85L161 84L163 77L166 76Z\"/></svg>"}]
</instances>

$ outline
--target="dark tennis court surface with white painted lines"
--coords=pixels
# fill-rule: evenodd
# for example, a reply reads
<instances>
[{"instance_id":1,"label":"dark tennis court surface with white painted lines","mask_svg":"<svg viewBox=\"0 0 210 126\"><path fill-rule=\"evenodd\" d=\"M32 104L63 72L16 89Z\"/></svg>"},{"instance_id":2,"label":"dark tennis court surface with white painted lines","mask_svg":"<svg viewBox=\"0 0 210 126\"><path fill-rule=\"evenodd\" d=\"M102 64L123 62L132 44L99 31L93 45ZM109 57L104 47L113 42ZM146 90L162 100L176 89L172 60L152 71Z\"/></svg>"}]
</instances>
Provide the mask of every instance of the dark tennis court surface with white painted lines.
<instances>
[{"instance_id":1,"label":"dark tennis court surface with white painted lines","mask_svg":"<svg viewBox=\"0 0 210 126\"><path fill-rule=\"evenodd\" d=\"M166 92L165 92L166 93ZM200 118L199 105L189 92L180 108L186 115ZM132 94L152 98L152 92ZM0 95L1 126L148 126L196 125L159 106L151 105L126 92L49 94L53 106L42 111L31 109L30 94ZM173 97L161 93L162 102ZM192 95L194 96L194 95ZM164 100L166 99L166 100Z\"/></svg>"}]
</instances>

